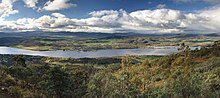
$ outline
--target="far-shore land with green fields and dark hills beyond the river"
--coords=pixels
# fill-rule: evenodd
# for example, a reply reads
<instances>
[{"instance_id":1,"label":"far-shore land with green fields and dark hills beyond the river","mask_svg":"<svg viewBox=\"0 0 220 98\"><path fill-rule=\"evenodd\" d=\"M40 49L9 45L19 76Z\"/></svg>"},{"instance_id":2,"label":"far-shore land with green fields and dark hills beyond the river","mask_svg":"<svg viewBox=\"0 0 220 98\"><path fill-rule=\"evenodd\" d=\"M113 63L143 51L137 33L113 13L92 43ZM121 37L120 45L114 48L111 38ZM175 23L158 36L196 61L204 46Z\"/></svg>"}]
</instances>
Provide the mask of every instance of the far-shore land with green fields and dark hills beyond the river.
<instances>
[{"instance_id":1,"label":"far-shore land with green fields and dark hills beyond the river","mask_svg":"<svg viewBox=\"0 0 220 98\"><path fill-rule=\"evenodd\" d=\"M77 50L154 48L155 46L206 46L219 40L218 34L135 34L135 33L9 33L0 34L0 45L27 50Z\"/></svg>"}]
</instances>

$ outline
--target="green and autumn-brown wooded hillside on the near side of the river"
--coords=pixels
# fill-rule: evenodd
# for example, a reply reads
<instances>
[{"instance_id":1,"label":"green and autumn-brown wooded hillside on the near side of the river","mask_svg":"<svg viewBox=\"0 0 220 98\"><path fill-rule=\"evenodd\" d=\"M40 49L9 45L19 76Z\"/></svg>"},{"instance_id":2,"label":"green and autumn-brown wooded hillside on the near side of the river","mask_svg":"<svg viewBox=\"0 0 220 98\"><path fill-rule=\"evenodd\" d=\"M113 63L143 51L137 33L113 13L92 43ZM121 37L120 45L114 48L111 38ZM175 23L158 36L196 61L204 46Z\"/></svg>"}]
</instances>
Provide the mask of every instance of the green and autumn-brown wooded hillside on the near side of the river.
<instances>
[{"instance_id":1,"label":"green and autumn-brown wooded hillside on the near side of the river","mask_svg":"<svg viewBox=\"0 0 220 98\"><path fill-rule=\"evenodd\" d=\"M104 58L0 56L0 97L219 98L219 50L215 42L164 57L111 58L108 64L95 62Z\"/></svg>"}]
</instances>

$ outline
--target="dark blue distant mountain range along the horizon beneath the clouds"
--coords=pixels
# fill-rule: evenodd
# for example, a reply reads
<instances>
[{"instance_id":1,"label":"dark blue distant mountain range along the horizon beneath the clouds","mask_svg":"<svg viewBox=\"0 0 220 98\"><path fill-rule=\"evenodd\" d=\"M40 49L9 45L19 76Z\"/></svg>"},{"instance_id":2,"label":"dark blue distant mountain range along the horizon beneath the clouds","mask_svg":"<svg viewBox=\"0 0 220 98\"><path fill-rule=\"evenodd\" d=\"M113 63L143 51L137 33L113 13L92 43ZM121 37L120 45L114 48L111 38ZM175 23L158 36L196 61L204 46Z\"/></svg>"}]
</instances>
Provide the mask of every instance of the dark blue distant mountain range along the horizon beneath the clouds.
<instances>
[{"instance_id":1,"label":"dark blue distant mountain range along the horizon beneath the clouds","mask_svg":"<svg viewBox=\"0 0 220 98\"><path fill-rule=\"evenodd\" d=\"M220 34L141 34L141 33L94 33L94 32L0 32L0 37L30 37L30 36L54 36L54 37L63 37L63 36L106 36L106 37L119 37L119 36L179 36L179 37L195 37L198 35L209 36L209 37L218 37ZM119 37L120 38L120 37Z\"/></svg>"}]
</instances>

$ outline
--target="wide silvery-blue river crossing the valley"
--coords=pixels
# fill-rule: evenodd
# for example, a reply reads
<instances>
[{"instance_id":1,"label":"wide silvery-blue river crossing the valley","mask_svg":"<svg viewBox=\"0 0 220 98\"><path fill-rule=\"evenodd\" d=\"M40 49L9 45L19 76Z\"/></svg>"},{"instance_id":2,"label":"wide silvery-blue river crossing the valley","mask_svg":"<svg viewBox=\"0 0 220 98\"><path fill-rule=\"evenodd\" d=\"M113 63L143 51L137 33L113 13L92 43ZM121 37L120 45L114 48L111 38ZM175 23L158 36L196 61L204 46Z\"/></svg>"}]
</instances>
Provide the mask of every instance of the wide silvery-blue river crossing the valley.
<instances>
[{"instance_id":1,"label":"wide silvery-blue river crossing the valley","mask_svg":"<svg viewBox=\"0 0 220 98\"><path fill-rule=\"evenodd\" d=\"M196 47L191 47L195 49ZM0 54L49 56L62 58L98 58L125 55L169 55L178 52L178 47L156 47L154 49L107 49L97 51L31 51L0 46Z\"/></svg>"}]
</instances>

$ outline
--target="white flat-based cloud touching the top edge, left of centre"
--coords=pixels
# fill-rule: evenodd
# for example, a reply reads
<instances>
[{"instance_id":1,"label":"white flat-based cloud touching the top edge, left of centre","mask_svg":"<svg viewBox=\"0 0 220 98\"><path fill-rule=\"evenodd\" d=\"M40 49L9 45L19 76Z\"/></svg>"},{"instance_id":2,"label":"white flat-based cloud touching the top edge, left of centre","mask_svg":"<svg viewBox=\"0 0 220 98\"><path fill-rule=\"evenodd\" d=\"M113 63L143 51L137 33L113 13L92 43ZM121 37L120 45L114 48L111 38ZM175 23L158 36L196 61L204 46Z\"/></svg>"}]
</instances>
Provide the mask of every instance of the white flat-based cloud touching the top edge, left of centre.
<instances>
[{"instance_id":1,"label":"white flat-based cloud touching the top edge, left of centre","mask_svg":"<svg viewBox=\"0 0 220 98\"><path fill-rule=\"evenodd\" d=\"M69 0L53 0L46 2L41 10L56 11L76 6L76 4L69 3Z\"/></svg>"}]
</instances>

